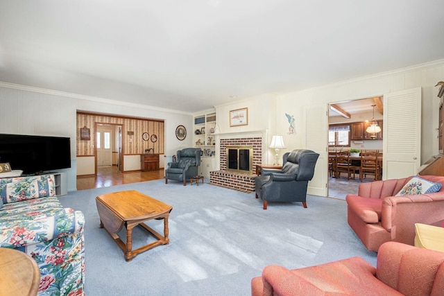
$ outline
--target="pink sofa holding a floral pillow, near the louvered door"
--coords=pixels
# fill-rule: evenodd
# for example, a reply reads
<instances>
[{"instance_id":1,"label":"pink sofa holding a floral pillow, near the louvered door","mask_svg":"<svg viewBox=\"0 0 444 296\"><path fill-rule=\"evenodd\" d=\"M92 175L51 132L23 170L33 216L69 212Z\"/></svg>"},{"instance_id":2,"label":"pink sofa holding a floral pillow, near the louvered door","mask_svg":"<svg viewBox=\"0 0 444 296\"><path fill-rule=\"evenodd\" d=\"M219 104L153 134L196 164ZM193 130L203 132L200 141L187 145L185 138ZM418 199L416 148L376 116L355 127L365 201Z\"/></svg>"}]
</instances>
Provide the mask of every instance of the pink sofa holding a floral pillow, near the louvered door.
<instances>
[{"instance_id":1,"label":"pink sofa holding a floral pillow, near the louvered door","mask_svg":"<svg viewBox=\"0 0 444 296\"><path fill-rule=\"evenodd\" d=\"M419 176L444 185L442 176ZM370 251L386 241L414 244L415 223L441 225L444 186L437 193L393 196L411 177L362 183L358 195L348 194L348 225Z\"/></svg>"}]
</instances>

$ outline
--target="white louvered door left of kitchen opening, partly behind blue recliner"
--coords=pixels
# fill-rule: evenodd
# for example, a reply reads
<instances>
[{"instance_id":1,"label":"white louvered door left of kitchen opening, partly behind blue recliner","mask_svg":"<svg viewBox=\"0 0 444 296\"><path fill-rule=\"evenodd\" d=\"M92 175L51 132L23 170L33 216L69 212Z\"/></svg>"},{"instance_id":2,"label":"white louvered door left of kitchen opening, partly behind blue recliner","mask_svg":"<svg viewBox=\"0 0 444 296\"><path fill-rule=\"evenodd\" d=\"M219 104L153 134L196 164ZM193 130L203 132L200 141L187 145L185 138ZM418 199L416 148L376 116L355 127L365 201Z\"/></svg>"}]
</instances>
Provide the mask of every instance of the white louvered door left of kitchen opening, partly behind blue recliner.
<instances>
[{"instance_id":1,"label":"white louvered door left of kitchen opening, partly behind blue recliner","mask_svg":"<svg viewBox=\"0 0 444 296\"><path fill-rule=\"evenodd\" d=\"M305 109L305 148L319 153L313 179L308 183L307 193L327 196L327 105L306 107Z\"/></svg>"}]
</instances>

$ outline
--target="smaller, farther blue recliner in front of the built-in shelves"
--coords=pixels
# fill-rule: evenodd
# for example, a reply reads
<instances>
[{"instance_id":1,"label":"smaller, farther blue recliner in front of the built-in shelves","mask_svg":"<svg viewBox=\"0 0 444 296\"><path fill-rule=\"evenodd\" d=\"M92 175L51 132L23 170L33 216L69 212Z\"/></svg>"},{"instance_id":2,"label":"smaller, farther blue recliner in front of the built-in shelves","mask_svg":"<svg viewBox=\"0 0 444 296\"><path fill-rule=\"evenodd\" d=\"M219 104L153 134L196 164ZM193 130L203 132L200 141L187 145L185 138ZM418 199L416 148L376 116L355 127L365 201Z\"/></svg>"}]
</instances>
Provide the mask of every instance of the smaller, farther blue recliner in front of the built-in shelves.
<instances>
[{"instance_id":1,"label":"smaller, farther blue recliner in front of the built-in shelves","mask_svg":"<svg viewBox=\"0 0 444 296\"><path fill-rule=\"evenodd\" d=\"M185 148L178 150L178 161L169 162L165 171L165 184L168 179L182 181L183 186L187 185L187 180L198 175L200 166L200 148Z\"/></svg>"}]
</instances>

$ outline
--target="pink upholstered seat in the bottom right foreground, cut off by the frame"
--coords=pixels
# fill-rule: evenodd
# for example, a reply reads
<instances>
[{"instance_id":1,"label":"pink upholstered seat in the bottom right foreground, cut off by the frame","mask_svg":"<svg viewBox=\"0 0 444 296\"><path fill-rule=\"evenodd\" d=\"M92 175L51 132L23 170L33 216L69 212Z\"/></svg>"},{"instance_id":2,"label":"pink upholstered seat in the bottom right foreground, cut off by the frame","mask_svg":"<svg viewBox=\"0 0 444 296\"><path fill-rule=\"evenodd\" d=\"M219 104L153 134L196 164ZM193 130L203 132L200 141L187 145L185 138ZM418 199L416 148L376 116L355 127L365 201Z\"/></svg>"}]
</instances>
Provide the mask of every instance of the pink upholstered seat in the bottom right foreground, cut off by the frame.
<instances>
[{"instance_id":1,"label":"pink upholstered seat in the bottom right foreground, cut off by the frame","mask_svg":"<svg viewBox=\"0 0 444 296\"><path fill-rule=\"evenodd\" d=\"M388 242L376 268L358 256L297 270L268 265L251 295L444 295L444 252Z\"/></svg>"}]
</instances>

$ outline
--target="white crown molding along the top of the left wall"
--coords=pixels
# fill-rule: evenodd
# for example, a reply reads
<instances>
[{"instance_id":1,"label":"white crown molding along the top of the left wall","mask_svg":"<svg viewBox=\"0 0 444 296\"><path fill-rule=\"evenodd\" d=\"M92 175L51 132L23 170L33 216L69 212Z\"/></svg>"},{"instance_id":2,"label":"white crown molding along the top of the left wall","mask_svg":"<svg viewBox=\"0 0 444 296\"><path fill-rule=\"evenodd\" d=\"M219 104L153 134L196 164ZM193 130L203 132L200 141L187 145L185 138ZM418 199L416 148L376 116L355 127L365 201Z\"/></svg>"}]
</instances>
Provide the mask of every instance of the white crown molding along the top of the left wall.
<instances>
[{"instance_id":1,"label":"white crown molding along the top of the left wall","mask_svg":"<svg viewBox=\"0 0 444 296\"><path fill-rule=\"evenodd\" d=\"M146 109L146 110L154 110L154 111L160 111L160 112L192 115L192 113L190 113L190 112L182 112L179 110L160 108L160 107L154 107L154 106L150 106L150 105L143 105L143 104L136 104L136 103L128 103L128 102L123 102L123 101L111 100L109 98L99 98L96 96L86 96L83 94L72 94L69 92L60 92L60 91L53 90L53 89L30 87L28 85L17 85L15 83L10 83L10 82L0 81L0 87L7 87L10 89L19 89L19 90L24 90L24 91L28 91L28 92L38 92L41 94L51 94L54 96L65 96L66 98L76 98L79 100L93 101L96 103L105 103L105 104L120 105L120 106L125 106L125 107L135 107L138 109Z\"/></svg>"}]
</instances>

